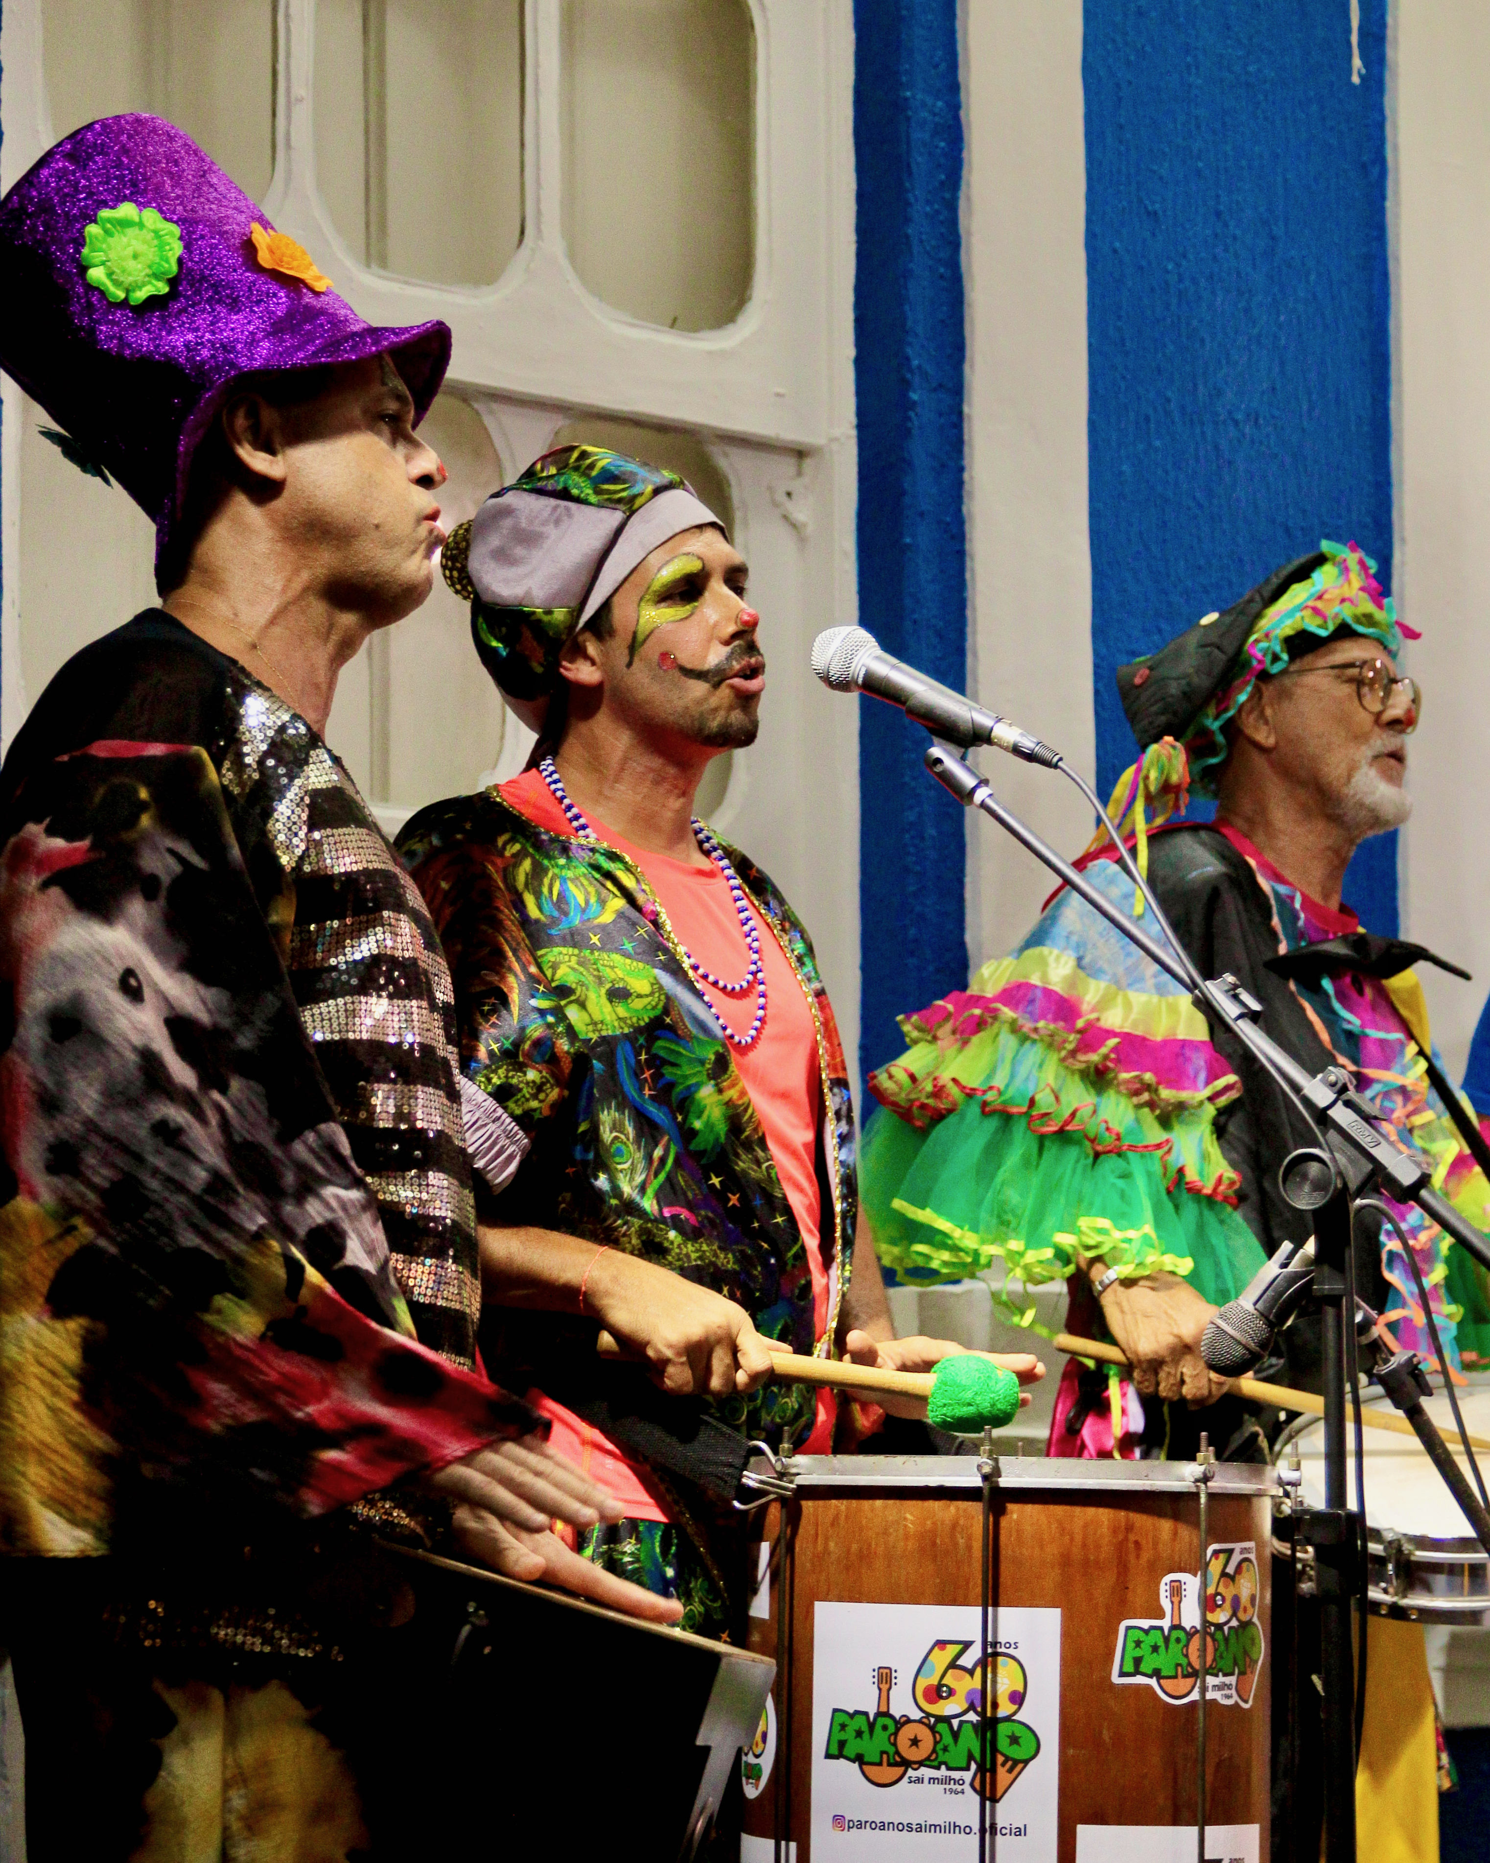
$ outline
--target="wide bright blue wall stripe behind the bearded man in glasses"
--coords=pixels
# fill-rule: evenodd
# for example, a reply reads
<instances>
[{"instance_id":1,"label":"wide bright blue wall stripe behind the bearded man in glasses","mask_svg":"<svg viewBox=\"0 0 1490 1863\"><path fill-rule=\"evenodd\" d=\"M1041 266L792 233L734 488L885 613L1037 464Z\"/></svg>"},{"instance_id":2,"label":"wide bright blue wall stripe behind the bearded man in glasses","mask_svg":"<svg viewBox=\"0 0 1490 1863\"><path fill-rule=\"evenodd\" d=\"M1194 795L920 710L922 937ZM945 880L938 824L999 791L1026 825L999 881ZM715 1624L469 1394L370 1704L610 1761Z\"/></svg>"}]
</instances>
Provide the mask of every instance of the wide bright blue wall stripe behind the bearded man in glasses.
<instances>
[{"instance_id":1,"label":"wide bright blue wall stripe behind the bearded man in glasses","mask_svg":"<svg viewBox=\"0 0 1490 1863\"><path fill-rule=\"evenodd\" d=\"M1114 671L1317 550L1391 587L1386 0L1086 0L1091 646ZM1410 619L1410 617L1408 617ZM1397 932L1397 836L1347 898Z\"/></svg>"}]
</instances>

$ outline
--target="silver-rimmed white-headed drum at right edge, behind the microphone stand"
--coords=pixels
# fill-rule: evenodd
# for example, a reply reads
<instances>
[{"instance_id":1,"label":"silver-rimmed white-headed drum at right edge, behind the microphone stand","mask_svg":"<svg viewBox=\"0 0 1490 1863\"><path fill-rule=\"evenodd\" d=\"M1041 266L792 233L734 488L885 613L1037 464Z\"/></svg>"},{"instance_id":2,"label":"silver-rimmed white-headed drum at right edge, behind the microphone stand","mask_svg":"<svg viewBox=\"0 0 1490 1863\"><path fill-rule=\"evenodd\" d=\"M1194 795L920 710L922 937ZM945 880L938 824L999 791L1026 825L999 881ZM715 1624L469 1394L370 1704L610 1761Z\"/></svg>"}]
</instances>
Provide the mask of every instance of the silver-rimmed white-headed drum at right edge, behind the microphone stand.
<instances>
[{"instance_id":1,"label":"silver-rimmed white-headed drum at right edge, behind the microphone stand","mask_svg":"<svg viewBox=\"0 0 1490 1863\"><path fill-rule=\"evenodd\" d=\"M1391 1410L1386 1397L1367 1397L1365 1410ZM1423 1408L1438 1425L1443 1442L1458 1451L1453 1410L1447 1397L1427 1397ZM1464 1427L1471 1436L1490 1436L1490 1377L1477 1373L1458 1394ZM1302 1464L1302 1496L1309 1507L1324 1505L1324 1423L1313 1421L1294 1442ZM1347 1421L1348 1457L1347 1502L1356 1505L1356 1444ZM1287 1453L1287 1451L1285 1451ZM1490 1479L1490 1449L1477 1451ZM1471 1481L1473 1487L1473 1481ZM1443 1485L1414 1436L1365 1433L1365 1522L1371 1548L1371 1608L1382 1617L1414 1623L1490 1626L1490 1561L1473 1537L1470 1522ZM1287 1556L1287 1544L1278 1552ZM1311 1574L1300 1571L1304 1589Z\"/></svg>"}]
</instances>

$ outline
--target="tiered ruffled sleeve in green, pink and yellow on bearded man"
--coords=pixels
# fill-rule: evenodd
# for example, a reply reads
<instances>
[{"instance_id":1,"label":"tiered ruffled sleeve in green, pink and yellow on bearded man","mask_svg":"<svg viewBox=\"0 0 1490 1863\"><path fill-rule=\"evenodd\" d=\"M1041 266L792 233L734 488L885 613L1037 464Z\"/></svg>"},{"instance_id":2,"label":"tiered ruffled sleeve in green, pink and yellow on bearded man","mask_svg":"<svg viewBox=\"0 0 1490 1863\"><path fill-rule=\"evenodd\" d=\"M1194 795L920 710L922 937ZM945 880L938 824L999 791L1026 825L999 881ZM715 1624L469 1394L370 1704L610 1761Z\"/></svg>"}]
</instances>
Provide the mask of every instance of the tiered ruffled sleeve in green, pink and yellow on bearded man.
<instances>
[{"instance_id":1,"label":"tiered ruffled sleeve in green, pink and yellow on bearded man","mask_svg":"<svg viewBox=\"0 0 1490 1863\"><path fill-rule=\"evenodd\" d=\"M1119 868L1090 872L1132 911ZM1028 1289L1063 1280L1077 1256L1127 1278L1168 1269L1212 1300L1261 1265L1214 1133L1237 1077L1179 986L1075 894L1013 958L901 1028L911 1049L870 1079L885 1110L860 1185L903 1280L1002 1261L996 1299L1032 1325Z\"/></svg>"}]
</instances>

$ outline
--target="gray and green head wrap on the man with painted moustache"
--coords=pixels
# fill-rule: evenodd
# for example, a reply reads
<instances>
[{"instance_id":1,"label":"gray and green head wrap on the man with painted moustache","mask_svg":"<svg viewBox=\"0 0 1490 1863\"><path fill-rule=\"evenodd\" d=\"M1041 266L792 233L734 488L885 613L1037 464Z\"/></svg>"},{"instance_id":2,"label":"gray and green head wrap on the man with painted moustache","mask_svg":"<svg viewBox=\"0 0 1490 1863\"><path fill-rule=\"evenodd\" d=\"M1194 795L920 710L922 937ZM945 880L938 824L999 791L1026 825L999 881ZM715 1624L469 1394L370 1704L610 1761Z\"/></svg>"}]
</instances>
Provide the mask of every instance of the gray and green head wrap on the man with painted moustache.
<instances>
[{"instance_id":1,"label":"gray and green head wrap on the man with painted moustache","mask_svg":"<svg viewBox=\"0 0 1490 1863\"><path fill-rule=\"evenodd\" d=\"M678 473L605 447L559 447L451 531L445 581L471 604L481 663L542 728L559 654L631 570L698 525L725 525Z\"/></svg>"}]
</instances>

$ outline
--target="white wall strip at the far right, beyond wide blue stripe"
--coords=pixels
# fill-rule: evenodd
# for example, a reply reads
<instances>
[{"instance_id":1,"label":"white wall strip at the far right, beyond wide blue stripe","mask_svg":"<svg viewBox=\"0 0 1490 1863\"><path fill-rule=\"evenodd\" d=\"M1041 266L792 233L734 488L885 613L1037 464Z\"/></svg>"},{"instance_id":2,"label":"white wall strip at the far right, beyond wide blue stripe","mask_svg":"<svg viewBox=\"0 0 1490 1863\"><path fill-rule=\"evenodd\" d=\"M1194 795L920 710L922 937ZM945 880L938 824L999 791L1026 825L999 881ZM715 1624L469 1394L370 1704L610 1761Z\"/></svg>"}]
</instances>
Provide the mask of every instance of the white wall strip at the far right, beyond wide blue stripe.
<instances>
[{"instance_id":1,"label":"white wall strip at the far right, beyond wide blue stripe","mask_svg":"<svg viewBox=\"0 0 1490 1863\"><path fill-rule=\"evenodd\" d=\"M1475 972L1421 967L1458 1075L1490 987L1490 9L1393 0L1397 602L1408 667L1404 935Z\"/></svg>"}]
</instances>

